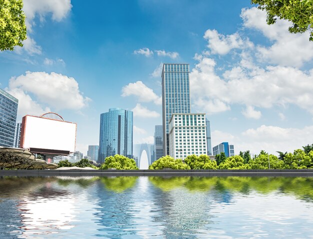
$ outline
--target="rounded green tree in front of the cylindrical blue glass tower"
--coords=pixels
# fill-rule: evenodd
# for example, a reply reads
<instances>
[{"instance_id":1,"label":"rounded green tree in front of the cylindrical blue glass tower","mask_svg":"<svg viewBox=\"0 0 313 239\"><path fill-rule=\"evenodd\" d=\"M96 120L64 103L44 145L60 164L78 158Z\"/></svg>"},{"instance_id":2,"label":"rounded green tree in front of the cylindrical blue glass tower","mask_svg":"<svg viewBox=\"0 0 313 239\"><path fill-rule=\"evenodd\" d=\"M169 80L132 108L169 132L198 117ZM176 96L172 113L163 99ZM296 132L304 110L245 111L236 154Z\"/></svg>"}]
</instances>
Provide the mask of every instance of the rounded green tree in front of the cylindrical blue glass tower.
<instances>
[{"instance_id":1,"label":"rounded green tree in front of the cylindrical blue glass tower","mask_svg":"<svg viewBox=\"0 0 313 239\"><path fill-rule=\"evenodd\" d=\"M105 158L104 163L102 163L100 166L100 169L107 168L138 169L135 160L119 154Z\"/></svg>"}]
</instances>

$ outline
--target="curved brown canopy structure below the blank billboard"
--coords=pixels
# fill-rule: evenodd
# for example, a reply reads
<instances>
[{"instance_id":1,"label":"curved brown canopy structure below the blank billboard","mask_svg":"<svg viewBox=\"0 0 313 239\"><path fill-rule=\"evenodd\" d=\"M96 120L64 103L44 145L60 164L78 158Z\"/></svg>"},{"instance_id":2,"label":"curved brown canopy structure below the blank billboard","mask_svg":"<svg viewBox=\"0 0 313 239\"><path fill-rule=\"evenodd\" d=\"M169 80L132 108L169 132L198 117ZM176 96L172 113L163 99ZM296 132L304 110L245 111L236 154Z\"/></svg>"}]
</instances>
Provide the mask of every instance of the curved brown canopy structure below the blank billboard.
<instances>
[{"instance_id":1,"label":"curved brown canopy structure below the blank billboard","mask_svg":"<svg viewBox=\"0 0 313 239\"><path fill-rule=\"evenodd\" d=\"M16 147L0 147L0 169L54 169L55 163L35 158L28 149Z\"/></svg>"}]
</instances>

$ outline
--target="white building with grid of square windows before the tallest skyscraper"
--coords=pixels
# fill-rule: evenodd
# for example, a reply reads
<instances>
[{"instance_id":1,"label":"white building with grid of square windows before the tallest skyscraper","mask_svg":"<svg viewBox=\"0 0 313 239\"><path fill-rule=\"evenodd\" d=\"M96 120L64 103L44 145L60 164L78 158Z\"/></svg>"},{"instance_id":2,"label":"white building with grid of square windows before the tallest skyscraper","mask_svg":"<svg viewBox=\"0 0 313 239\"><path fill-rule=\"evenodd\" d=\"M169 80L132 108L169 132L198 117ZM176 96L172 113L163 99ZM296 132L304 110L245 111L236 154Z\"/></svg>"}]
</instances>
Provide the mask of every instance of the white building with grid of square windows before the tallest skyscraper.
<instances>
[{"instance_id":1,"label":"white building with grid of square windows before the tallest skyscraper","mask_svg":"<svg viewBox=\"0 0 313 239\"><path fill-rule=\"evenodd\" d=\"M205 113L173 113L169 120L169 155L206 154Z\"/></svg>"}]
</instances>

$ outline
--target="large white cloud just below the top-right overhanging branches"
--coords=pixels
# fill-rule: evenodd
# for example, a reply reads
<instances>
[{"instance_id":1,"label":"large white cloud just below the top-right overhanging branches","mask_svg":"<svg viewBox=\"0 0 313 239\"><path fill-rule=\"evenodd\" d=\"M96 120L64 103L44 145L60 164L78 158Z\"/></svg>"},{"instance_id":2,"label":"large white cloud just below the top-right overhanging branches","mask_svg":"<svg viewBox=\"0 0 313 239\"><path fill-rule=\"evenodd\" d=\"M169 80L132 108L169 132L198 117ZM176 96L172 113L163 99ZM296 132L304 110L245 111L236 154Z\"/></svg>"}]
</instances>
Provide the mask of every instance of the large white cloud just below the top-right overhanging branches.
<instances>
[{"instance_id":1,"label":"large white cloud just below the top-right overhanging branches","mask_svg":"<svg viewBox=\"0 0 313 239\"><path fill-rule=\"evenodd\" d=\"M277 19L272 25L266 24L266 12L252 8L243 8L240 14L243 25L260 31L273 44L258 45L257 57L273 64L285 66L302 66L304 62L313 59L313 44L308 41L309 32L292 34L288 31L291 23Z\"/></svg>"}]
</instances>

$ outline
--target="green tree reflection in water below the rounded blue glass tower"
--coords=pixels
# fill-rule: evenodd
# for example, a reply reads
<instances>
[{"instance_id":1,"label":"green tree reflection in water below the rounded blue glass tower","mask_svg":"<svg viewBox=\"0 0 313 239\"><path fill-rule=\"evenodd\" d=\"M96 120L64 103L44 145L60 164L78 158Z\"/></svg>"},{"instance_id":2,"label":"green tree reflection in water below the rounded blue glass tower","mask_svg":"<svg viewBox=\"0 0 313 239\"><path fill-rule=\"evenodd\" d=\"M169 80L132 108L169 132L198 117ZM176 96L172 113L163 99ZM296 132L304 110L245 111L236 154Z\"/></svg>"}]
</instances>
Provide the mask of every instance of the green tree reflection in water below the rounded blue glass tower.
<instances>
[{"instance_id":1,"label":"green tree reflection in water below the rounded blue glass tower","mask_svg":"<svg viewBox=\"0 0 313 239\"><path fill-rule=\"evenodd\" d=\"M137 176L101 177L100 181L108 190L120 193L136 184Z\"/></svg>"}]
</instances>

